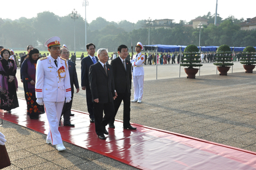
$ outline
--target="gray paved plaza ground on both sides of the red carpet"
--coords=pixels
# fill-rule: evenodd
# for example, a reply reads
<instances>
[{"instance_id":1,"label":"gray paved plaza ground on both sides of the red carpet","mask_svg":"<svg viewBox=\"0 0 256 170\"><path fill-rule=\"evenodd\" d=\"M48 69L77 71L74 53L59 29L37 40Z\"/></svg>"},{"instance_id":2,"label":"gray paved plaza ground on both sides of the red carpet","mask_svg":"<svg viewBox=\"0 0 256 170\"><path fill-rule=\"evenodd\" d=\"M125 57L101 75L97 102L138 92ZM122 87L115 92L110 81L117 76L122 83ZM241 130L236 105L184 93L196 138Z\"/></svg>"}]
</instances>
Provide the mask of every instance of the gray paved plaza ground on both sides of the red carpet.
<instances>
[{"instance_id":1,"label":"gray paved plaza ground on both sides of the red carpet","mask_svg":"<svg viewBox=\"0 0 256 170\"><path fill-rule=\"evenodd\" d=\"M187 79L183 67L178 78L178 64L170 64L158 66L156 80L156 67L144 68L144 96L131 103L131 122L256 152L255 73L235 62L233 73L219 76L204 63L201 76ZM77 73L80 81L80 61ZM22 83L18 97L24 98ZM122 120L122 107L116 119ZM72 109L87 112L85 91L74 94ZM12 163L6 169L136 169L66 142L67 150L58 152L44 134L6 121L0 131Z\"/></svg>"}]
</instances>

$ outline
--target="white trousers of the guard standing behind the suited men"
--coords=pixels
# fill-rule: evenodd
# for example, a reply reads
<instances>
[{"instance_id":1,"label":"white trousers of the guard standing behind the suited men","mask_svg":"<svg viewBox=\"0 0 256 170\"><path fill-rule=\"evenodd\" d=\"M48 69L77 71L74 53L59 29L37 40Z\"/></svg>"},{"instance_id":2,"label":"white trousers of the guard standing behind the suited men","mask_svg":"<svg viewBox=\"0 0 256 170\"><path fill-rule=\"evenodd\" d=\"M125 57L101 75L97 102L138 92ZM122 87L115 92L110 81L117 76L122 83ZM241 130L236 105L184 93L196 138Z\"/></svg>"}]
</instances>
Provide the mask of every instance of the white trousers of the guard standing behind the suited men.
<instances>
[{"instance_id":1,"label":"white trousers of the guard standing behind the suited men","mask_svg":"<svg viewBox=\"0 0 256 170\"><path fill-rule=\"evenodd\" d=\"M132 76L134 81L134 99L142 99L144 76Z\"/></svg>"}]
</instances>

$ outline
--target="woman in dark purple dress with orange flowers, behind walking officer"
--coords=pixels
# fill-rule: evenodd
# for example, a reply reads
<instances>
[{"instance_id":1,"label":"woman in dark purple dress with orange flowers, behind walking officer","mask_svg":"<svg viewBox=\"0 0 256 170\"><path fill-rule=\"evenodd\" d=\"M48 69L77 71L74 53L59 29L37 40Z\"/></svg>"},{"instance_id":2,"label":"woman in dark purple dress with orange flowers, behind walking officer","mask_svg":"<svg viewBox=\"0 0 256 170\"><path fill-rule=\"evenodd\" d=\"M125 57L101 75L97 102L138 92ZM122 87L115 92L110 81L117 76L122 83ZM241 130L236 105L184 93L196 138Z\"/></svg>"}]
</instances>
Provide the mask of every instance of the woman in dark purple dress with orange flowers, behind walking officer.
<instances>
[{"instance_id":1,"label":"woman in dark purple dress with orange flowers, behind walking officer","mask_svg":"<svg viewBox=\"0 0 256 170\"><path fill-rule=\"evenodd\" d=\"M21 66L21 73L26 80L24 86L26 87L26 101L27 101L27 115L31 119L38 119L39 114L45 113L43 106L36 102L35 84L36 84L36 64L40 53L38 49L33 48L28 52L28 56Z\"/></svg>"}]
</instances>

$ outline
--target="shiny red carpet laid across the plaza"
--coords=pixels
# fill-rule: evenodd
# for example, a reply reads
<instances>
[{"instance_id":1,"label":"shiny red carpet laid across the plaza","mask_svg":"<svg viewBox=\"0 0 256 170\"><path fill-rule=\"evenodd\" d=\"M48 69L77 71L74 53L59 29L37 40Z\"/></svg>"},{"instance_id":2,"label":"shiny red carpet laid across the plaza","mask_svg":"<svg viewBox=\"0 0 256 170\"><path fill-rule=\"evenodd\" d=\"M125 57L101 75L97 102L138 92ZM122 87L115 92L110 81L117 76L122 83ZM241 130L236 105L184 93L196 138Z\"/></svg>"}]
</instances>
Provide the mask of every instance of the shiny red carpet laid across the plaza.
<instances>
[{"instance_id":1,"label":"shiny red carpet laid across the plaza","mask_svg":"<svg viewBox=\"0 0 256 170\"><path fill-rule=\"evenodd\" d=\"M0 112L6 121L44 134L46 114L32 120L26 115L26 101L19 99L12 113ZM97 138L87 113L72 111L75 127L59 128L63 141L103 154L140 169L256 169L256 153L202 139L132 124L137 131L122 128L122 121L109 128L106 141Z\"/></svg>"}]
</instances>

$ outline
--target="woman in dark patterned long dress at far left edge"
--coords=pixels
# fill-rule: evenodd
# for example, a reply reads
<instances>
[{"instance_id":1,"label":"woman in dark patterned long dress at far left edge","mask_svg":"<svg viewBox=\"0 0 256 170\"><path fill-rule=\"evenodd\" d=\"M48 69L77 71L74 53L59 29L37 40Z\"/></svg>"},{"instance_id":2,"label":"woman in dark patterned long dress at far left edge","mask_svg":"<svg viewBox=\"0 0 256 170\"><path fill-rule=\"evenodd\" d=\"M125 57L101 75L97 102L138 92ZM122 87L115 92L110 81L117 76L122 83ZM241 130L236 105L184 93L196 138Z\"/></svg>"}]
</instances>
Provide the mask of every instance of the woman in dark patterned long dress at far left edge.
<instances>
[{"instance_id":1,"label":"woman in dark patterned long dress at far left edge","mask_svg":"<svg viewBox=\"0 0 256 170\"><path fill-rule=\"evenodd\" d=\"M17 98L18 82L16 78L16 63L9 59L11 56L8 49L2 49L0 60L0 91L1 91L1 109L4 113L11 113L11 109L19 107Z\"/></svg>"}]
</instances>

